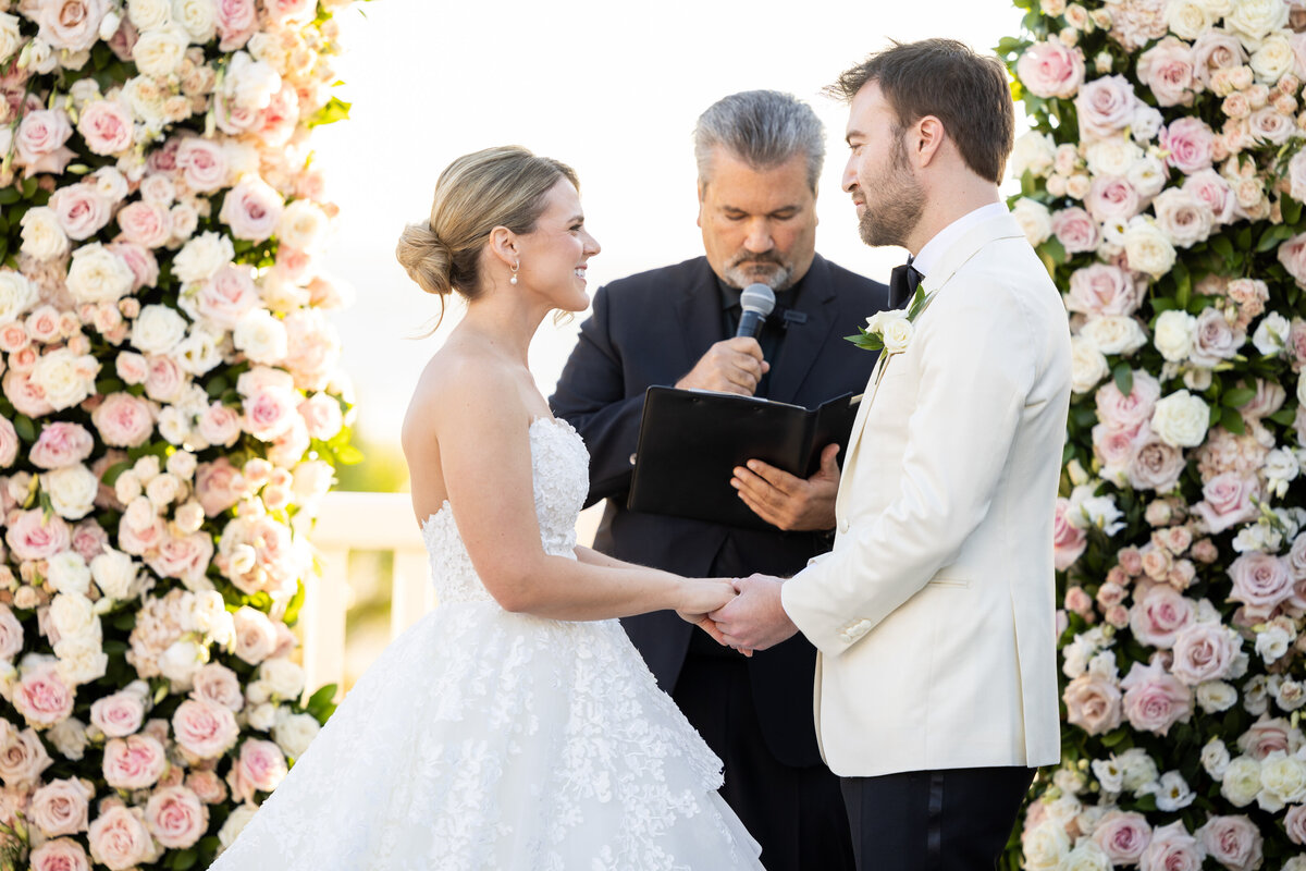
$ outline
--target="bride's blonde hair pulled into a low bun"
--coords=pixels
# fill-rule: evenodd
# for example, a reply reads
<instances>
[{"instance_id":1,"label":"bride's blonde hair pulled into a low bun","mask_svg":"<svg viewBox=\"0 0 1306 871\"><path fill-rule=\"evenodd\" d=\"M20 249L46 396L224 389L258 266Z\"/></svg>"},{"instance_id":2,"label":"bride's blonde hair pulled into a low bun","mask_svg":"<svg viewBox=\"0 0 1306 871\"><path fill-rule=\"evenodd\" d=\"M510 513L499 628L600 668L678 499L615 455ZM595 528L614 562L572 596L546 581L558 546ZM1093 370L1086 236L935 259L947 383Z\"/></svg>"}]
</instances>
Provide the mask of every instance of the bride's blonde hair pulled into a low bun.
<instances>
[{"instance_id":1,"label":"bride's blonde hair pulled into a low bun","mask_svg":"<svg viewBox=\"0 0 1306 871\"><path fill-rule=\"evenodd\" d=\"M545 197L562 178L580 189L569 166L520 145L465 154L440 174L430 219L404 229L394 256L422 290L440 296L443 316L447 294L479 295L481 251L494 229L534 230Z\"/></svg>"}]
</instances>

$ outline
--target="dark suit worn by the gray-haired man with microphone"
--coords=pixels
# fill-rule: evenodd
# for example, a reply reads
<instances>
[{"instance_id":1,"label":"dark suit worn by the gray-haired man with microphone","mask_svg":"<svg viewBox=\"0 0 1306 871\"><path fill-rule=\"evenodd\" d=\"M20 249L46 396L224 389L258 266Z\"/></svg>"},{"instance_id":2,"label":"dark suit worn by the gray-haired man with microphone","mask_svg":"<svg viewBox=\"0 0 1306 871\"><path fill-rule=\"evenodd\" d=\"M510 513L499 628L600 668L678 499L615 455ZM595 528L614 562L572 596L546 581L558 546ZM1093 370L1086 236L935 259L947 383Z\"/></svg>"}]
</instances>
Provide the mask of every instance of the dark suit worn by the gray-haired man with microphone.
<instances>
[{"instance_id":1,"label":"dark suit worn by the gray-haired man with microphone","mask_svg":"<svg viewBox=\"0 0 1306 871\"><path fill-rule=\"evenodd\" d=\"M734 334L738 313L725 304L731 293L738 291L720 283L707 257L695 257L594 294L593 313L581 324L550 405L589 448L586 504L607 499L597 550L691 577L788 577L829 550L823 533L759 531L626 509L644 390L674 385L714 342ZM875 354L842 337L884 308L887 293L816 255L793 294L776 294L777 309L759 337L764 353L768 346L774 353L773 359L767 354L772 368L759 396L814 407L861 393ZM852 868L838 781L816 747L815 649L799 635L744 659L671 611L622 623L660 686L722 756L722 795L761 842L768 870ZM739 746L741 726L754 746ZM773 769L759 769L759 751L769 751Z\"/></svg>"}]
</instances>

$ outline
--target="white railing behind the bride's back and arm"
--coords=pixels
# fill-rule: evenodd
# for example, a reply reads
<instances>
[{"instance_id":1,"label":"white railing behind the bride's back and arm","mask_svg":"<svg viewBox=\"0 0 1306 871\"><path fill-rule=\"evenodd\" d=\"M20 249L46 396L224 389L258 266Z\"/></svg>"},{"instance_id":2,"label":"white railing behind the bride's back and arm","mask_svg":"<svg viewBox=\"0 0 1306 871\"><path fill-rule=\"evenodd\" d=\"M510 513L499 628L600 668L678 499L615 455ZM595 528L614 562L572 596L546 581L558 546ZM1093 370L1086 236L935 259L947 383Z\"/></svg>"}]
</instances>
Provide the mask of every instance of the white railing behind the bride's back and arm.
<instances>
[{"instance_id":1,"label":"white railing behind the bride's back and arm","mask_svg":"<svg viewBox=\"0 0 1306 871\"><path fill-rule=\"evenodd\" d=\"M594 541L601 507L581 512L576 524L581 543ZM345 620L349 611L350 551L390 551L390 639L435 607L435 588L426 562L422 533L407 494L332 492L323 503L310 537L321 562L320 578L306 584L299 629L310 691L343 684Z\"/></svg>"}]
</instances>

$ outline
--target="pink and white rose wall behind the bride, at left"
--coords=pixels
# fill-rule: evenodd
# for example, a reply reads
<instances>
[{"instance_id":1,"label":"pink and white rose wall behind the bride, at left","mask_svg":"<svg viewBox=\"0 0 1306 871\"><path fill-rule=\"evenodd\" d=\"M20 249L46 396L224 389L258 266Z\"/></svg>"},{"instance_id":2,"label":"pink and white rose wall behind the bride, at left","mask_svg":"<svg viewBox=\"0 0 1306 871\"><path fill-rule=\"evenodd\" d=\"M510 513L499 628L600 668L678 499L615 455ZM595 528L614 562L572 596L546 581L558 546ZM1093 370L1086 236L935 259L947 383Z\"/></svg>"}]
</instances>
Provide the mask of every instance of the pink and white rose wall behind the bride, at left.
<instances>
[{"instance_id":1,"label":"pink and white rose wall behind the bride, at left","mask_svg":"<svg viewBox=\"0 0 1306 871\"><path fill-rule=\"evenodd\" d=\"M329 716L350 0L0 0L0 867L206 867Z\"/></svg>"}]
</instances>

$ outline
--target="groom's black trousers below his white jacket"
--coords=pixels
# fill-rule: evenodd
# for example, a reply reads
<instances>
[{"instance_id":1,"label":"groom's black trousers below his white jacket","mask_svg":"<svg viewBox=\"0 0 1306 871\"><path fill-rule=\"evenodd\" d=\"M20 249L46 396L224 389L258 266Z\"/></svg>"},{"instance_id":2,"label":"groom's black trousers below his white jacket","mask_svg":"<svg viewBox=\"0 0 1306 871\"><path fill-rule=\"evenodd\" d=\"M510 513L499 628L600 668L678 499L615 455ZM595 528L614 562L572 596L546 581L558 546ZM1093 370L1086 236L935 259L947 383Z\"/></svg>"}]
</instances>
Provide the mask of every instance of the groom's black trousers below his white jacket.
<instances>
[{"instance_id":1,"label":"groom's black trousers below his white jacket","mask_svg":"<svg viewBox=\"0 0 1306 871\"><path fill-rule=\"evenodd\" d=\"M858 871L998 867L1032 768L953 768L841 781Z\"/></svg>"}]
</instances>

